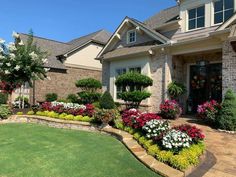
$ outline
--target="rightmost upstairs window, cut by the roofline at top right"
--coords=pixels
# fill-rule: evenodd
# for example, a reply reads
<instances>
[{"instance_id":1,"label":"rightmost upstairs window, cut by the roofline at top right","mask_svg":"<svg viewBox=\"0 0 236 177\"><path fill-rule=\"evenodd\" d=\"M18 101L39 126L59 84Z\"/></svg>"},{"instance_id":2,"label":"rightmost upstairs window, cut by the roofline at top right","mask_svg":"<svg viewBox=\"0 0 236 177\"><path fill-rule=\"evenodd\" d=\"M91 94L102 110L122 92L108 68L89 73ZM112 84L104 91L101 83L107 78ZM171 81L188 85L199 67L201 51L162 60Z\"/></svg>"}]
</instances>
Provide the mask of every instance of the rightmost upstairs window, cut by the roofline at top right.
<instances>
[{"instance_id":1,"label":"rightmost upstairs window, cut by the roofline at top right","mask_svg":"<svg viewBox=\"0 0 236 177\"><path fill-rule=\"evenodd\" d=\"M222 23L234 14L234 0L217 0L214 2L214 23Z\"/></svg>"}]
</instances>

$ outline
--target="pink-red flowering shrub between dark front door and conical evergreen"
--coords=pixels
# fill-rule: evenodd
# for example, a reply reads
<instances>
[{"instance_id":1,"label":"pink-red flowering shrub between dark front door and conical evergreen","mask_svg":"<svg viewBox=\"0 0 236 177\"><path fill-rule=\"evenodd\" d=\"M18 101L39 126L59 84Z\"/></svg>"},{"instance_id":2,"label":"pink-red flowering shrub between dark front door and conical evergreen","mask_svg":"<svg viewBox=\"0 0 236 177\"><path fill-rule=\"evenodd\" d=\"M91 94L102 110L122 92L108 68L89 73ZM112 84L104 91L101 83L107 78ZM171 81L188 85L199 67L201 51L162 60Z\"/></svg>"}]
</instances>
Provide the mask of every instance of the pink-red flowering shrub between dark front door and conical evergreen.
<instances>
[{"instance_id":1,"label":"pink-red flowering shrub between dark front door and conical evergreen","mask_svg":"<svg viewBox=\"0 0 236 177\"><path fill-rule=\"evenodd\" d=\"M197 113L198 117L205 119L210 123L214 123L216 116L221 109L221 105L215 100L207 101L202 105L198 106Z\"/></svg>"}]
</instances>

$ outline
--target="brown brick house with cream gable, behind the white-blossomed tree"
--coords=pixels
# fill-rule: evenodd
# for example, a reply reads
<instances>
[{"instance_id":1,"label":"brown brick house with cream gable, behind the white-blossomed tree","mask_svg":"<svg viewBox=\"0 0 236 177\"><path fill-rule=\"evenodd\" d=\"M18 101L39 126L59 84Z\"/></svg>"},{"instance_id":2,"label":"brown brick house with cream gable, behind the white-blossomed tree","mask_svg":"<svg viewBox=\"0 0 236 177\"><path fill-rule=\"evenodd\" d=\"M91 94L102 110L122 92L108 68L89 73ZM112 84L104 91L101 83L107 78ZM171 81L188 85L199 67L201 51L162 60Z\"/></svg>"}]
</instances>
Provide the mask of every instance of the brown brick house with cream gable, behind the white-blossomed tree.
<instances>
[{"instance_id":1,"label":"brown brick house with cream gable, behind the white-blossomed tree","mask_svg":"<svg viewBox=\"0 0 236 177\"><path fill-rule=\"evenodd\" d=\"M68 94L76 94L75 82L82 78L93 77L101 80L102 65L95 60L105 46L111 34L100 30L86 36L64 43L34 36L34 43L48 54L48 78L35 81L34 88L24 89L31 103L44 101L47 93L57 93L59 98ZM27 34L20 33L21 40L26 43ZM15 91L15 97L20 89Z\"/></svg>"}]
</instances>

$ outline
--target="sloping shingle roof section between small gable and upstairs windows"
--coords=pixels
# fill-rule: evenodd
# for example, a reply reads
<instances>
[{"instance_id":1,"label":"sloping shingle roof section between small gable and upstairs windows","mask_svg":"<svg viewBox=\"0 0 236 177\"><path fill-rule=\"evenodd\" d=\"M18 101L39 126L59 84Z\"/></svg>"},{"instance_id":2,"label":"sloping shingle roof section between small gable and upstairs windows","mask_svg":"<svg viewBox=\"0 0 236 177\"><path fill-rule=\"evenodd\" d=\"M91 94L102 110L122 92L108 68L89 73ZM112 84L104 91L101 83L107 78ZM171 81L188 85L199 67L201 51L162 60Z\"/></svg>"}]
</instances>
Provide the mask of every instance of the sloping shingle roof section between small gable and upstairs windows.
<instances>
[{"instance_id":1,"label":"sloping shingle roof section between small gable and upstairs windows","mask_svg":"<svg viewBox=\"0 0 236 177\"><path fill-rule=\"evenodd\" d=\"M156 29L168 22L178 20L179 17L179 6L170 7L162 10L154 16L148 18L144 23L152 29Z\"/></svg>"}]
</instances>

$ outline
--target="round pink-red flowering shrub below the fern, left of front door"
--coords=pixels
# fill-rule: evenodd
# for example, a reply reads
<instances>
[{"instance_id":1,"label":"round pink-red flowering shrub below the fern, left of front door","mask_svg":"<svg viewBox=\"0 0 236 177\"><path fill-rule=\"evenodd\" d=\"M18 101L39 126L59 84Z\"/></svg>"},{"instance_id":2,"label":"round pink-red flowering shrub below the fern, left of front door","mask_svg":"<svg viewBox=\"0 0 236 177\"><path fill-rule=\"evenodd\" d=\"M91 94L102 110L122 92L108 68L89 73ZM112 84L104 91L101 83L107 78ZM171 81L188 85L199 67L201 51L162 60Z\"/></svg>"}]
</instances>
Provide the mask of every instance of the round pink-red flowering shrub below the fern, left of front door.
<instances>
[{"instance_id":1,"label":"round pink-red flowering shrub below the fern, left of front door","mask_svg":"<svg viewBox=\"0 0 236 177\"><path fill-rule=\"evenodd\" d=\"M166 119L176 119L182 113L182 109L175 100L166 100L160 105L160 114Z\"/></svg>"}]
</instances>

